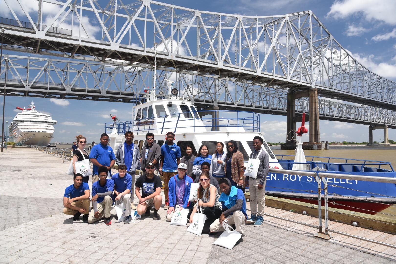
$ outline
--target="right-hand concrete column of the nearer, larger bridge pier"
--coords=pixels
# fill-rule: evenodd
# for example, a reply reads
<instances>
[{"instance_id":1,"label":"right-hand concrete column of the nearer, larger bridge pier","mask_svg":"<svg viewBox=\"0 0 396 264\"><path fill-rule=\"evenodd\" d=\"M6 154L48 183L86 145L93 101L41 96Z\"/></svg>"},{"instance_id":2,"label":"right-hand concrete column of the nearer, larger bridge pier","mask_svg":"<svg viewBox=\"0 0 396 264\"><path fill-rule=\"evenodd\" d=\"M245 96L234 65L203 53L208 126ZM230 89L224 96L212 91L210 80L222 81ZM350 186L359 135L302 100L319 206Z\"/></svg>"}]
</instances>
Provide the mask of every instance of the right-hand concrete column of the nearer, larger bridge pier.
<instances>
[{"instance_id":1,"label":"right-hand concrete column of the nearer, larger bridge pier","mask_svg":"<svg viewBox=\"0 0 396 264\"><path fill-rule=\"evenodd\" d=\"M318 89L309 89L309 142L320 142Z\"/></svg>"}]
</instances>

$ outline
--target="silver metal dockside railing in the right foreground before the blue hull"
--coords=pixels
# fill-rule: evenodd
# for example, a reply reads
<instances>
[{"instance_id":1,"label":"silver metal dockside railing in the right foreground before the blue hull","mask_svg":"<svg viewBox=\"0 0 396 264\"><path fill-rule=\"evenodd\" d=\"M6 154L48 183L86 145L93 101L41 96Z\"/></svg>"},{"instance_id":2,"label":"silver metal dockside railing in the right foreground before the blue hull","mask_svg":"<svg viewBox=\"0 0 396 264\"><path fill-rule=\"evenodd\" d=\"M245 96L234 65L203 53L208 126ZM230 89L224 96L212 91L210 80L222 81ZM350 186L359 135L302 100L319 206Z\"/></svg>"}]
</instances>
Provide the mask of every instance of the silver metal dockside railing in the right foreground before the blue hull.
<instances>
[{"instance_id":1,"label":"silver metal dockside railing in the right foreground before the blue hull","mask_svg":"<svg viewBox=\"0 0 396 264\"><path fill-rule=\"evenodd\" d=\"M303 214L303 215L307 215L310 217L316 217L318 218L318 225L313 225L313 224L308 224L307 222L309 221L310 218L300 218L298 217L298 219L303 219L303 220L296 220L296 217L294 216L294 219L289 219L289 218L285 218L285 217L281 217L279 215L270 215L268 213L264 213L264 215L268 216L268 217L273 217L273 218L277 218L277 219L281 219L281 220L286 220L289 222L293 222L296 224L301 224L304 226L309 226L311 228L315 228L316 230L318 230L318 232L315 234L315 236L323 238L323 239L330 239L331 235L330 233L334 233L334 234L340 234L343 236L348 236L348 237L353 237L355 239L361 239L367 242L371 242L371 243L376 243L379 245L383 245L386 247L391 247L396 249L396 245L392 245L389 243L384 243L382 241L377 241L374 239L369 239L366 237L361 237L361 236L356 236L353 234L348 234L345 232L341 232L338 231L338 225L337 223L335 224L329 224L329 222L331 220L335 221L335 222L342 222L343 224L348 224L348 225L352 225L352 226L357 226L357 227L361 227L361 228L367 228L370 230L376 230L376 231L381 231L381 232L386 232L386 233L390 233L390 234L395 234L395 230L394 230L394 226L391 226L390 229L386 229L385 226L390 226L392 225L392 221L387 222L385 218L382 218L383 220L381 220L381 218L375 218L373 219L372 215L370 215L370 213L372 213L371 211L369 211L369 209L362 209L362 208L358 208L360 210L363 211L368 211L367 214L350 214L350 211L353 209L350 209L350 203L343 203L343 200L339 201L338 203L340 203L341 205L345 206L346 208L348 208L347 210L342 210L342 209L336 209L331 207L332 205L335 205L336 203L334 201L329 201L329 196L339 196L341 198L349 198L349 199L354 199L356 201L362 201L362 198L359 197L346 197L343 196L341 194L336 194L334 193L334 188L346 188L344 186L341 186L341 184L331 184L328 185L327 181L329 179L340 179L339 182L341 182L341 179L344 180L354 180L354 181L364 181L364 182L377 182L377 183L385 183L385 184L390 184L390 185L394 185L396 184L396 178L391 178L391 177L377 177L377 176L366 176L366 175L348 175L348 174L341 174L341 173L328 173L328 172L322 172L322 171L294 171L294 170L284 170L284 169L272 169L270 168L268 171L268 174L283 174L283 175L299 175L301 177L309 177L310 178L310 182L312 182L312 178L315 179L314 182L312 183L316 183L313 184L313 190L303 190L304 192L310 193L310 197L309 198L305 198L307 199L307 206L304 207L305 209L302 211L299 211L298 213ZM329 181L330 182L330 181ZM335 180L333 180L333 182L335 182ZM266 196L267 195L271 195L268 192L268 187L270 187L271 181L267 180L267 185L266 185ZM331 187L331 191L328 190L328 187ZM275 187L276 188L276 187ZM301 187L299 187L301 188ZM357 187L356 187L357 188ZM384 190L385 190L385 186L384 186ZM287 188L281 188L282 191L288 191L288 192L294 192L294 189L289 189L287 190ZM362 190L356 190L359 192L363 192L365 193L366 196L371 196L372 193L366 193ZM380 192L380 191L379 191ZM378 195L378 194L377 194ZM381 196L381 194L379 194ZM385 197L389 197L391 199L396 199L396 197L393 196L388 196L388 195L383 195ZM308 200L312 200L312 197L316 197L318 203L315 206L308 206L310 203L308 203ZM302 198L304 199L304 198ZM316 200L314 199L314 200ZM368 200L364 200L364 203L372 203L373 205L377 205L377 204L381 204L381 200L380 201L368 201ZM385 205L385 203L383 203ZM312 205L312 204L311 204ZM387 204L389 206L389 204ZM390 206L396 206L396 205L390 205ZM324 214L322 215L322 210L324 211ZM291 210L291 212L293 212L293 210ZM297 213L297 211L296 211ZM381 214L378 213L378 214ZM344 219L344 221L342 220L334 220L335 215L342 215L342 219ZM392 215L392 213L384 213L384 215L386 215L387 217L396 217L396 215ZM350 220L350 219L353 220ZM347 219L347 220L345 220ZM305 222L302 222L305 221Z\"/></svg>"}]
</instances>

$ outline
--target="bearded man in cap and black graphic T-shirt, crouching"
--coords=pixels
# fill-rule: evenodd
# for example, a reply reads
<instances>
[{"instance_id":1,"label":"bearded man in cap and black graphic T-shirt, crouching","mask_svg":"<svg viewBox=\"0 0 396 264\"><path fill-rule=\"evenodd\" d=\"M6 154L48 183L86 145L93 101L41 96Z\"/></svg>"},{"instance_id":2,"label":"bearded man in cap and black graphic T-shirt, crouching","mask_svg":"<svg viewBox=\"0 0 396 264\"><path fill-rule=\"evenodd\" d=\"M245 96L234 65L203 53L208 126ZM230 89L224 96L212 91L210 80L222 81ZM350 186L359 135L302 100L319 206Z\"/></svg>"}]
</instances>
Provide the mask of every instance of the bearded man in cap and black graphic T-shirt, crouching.
<instances>
[{"instance_id":1,"label":"bearded man in cap and black graphic T-shirt, crouching","mask_svg":"<svg viewBox=\"0 0 396 264\"><path fill-rule=\"evenodd\" d=\"M154 206L154 212L152 214L153 220L159 220L160 216L158 215L158 210L162 204L162 196L161 196L161 188L162 182L160 177L154 175L154 164L147 163L146 165L146 174L139 177L135 183L135 195L139 199L139 203L137 205L137 216L136 218L140 218L140 216L145 213L146 217L150 216L150 207ZM142 192L140 194L140 189Z\"/></svg>"}]
</instances>

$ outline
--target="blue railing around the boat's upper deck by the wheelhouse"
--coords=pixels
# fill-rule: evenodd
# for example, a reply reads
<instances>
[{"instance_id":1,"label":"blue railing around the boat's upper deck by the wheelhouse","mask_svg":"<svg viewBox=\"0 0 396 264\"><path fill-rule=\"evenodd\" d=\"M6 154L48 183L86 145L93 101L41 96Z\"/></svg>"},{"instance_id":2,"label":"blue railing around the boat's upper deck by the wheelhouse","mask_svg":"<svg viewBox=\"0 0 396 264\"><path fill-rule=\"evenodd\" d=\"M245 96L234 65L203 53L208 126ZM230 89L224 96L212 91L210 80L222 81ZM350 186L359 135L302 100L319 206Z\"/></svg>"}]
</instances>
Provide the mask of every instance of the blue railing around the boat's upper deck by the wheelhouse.
<instances>
[{"instance_id":1,"label":"blue railing around the boat's upper deck by the wheelhouse","mask_svg":"<svg viewBox=\"0 0 396 264\"><path fill-rule=\"evenodd\" d=\"M205 117L211 115L211 117ZM190 118L186 118L190 116ZM235 117L236 116L236 117ZM166 125L171 122L171 127ZM154 124L156 124L154 126ZM124 135L126 131L135 134L152 132L166 133L169 130L176 133L176 129L191 129L191 132L221 131L222 128L233 127L236 132L249 131L260 132L260 116L253 112L227 111L227 110L203 110L176 113L171 115L152 116L150 118L126 121L121 123L105 123L105 133L114 133L114 126L118 135ZM166 129L164 131L164 129Z\"/></svg>"}]
</instances>

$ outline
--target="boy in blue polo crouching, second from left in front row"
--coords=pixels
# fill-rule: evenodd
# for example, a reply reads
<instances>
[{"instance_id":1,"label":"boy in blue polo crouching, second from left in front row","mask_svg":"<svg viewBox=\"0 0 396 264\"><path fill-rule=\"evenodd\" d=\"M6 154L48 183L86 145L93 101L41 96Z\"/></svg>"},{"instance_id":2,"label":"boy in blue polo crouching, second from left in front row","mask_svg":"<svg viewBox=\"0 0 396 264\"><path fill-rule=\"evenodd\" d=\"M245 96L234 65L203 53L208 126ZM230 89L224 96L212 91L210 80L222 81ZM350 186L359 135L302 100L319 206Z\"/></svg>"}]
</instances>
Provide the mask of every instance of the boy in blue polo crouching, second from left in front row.
<instances>
[{"instance_id":1,"label":"boy in blue polo crouching, second from left in front row","mask_svg":"<svg viewBox=\"0 0 396 264\"><path fill-rule=\"evenodd\" d=\"M92 184L93 210L89 213L88 223L92 224L105 216L105 224L111 224L111 206L113 205L114 180L107 179L107 167L102 166L97 170L99 180Z\"/></svg>"}]
</instances>

